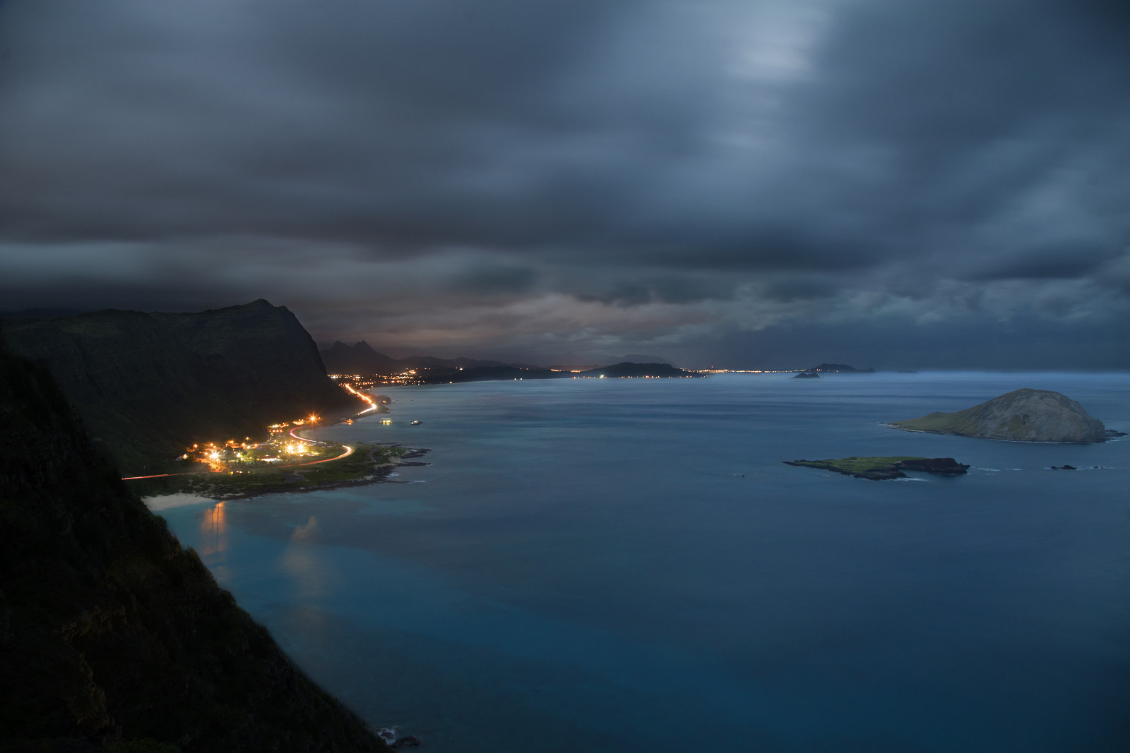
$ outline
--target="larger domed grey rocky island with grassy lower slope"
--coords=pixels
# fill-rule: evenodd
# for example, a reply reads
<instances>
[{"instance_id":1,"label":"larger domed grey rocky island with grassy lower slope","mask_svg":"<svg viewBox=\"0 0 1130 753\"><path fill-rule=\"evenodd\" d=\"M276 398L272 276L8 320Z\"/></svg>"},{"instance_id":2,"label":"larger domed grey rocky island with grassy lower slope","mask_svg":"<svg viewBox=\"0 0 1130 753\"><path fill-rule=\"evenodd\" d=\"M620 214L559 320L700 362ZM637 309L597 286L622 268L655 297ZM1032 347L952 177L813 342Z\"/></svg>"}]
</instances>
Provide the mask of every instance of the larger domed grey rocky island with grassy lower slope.
<instances>
[{"instance_id":1,"label":"larger domed grey rocky island with grassy lower slope","mask_svg":"<svg viewBox=\"0 0 1130 753\"><path fill-rule=\"evenodd\" d=\"M1011 441L1104 441L1107 431L1083 405L1049 389L1016 389L956 413L929 413L887 426L905 431L953 434Z\"/></svg>"}]
</instances>

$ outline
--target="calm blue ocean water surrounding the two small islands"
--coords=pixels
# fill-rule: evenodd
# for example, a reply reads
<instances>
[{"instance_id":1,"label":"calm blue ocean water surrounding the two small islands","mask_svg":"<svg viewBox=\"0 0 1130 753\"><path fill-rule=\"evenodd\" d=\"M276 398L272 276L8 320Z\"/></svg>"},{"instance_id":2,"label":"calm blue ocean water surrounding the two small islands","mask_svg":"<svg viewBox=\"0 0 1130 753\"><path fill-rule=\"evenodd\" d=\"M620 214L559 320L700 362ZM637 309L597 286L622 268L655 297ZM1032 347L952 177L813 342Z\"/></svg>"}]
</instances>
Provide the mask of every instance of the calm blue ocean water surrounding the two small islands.
<instances>
[{"instance_id":1,"label":"calm blue ocean water surrounding the two small islands","mask_svg":"<svg viewBox=\"0 0 1130 753\"><path fill-rule=\"evenodd\" d=\"M315 680L436 753L1127 750L1130 437L879 424L1018 387L1130 430L1124 374L400 387L392 426L320 435L432 448L400 483L162 515ZM973 467L781 463L847 455Z\"/></svg>"}]
</instances>

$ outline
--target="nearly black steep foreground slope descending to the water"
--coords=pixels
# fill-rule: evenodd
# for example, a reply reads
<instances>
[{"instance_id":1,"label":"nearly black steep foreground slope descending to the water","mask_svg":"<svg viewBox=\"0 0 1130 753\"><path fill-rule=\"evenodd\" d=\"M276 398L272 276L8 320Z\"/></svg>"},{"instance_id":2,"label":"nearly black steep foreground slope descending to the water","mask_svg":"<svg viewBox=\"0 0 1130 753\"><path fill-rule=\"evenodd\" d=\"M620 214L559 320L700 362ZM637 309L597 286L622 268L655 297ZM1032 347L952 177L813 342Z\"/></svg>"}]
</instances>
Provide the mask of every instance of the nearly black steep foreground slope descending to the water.
<instances>
[{"instance_id":1,"label":"nearly black steep foreground slope descending to the water","mask_svg":"<svg viewBox=\"0 0 1130 753\"><path fill-rule=\"evenodd\" d=\"M0 351L0 751L384 751Z\"/></svg>"}]
</instances>

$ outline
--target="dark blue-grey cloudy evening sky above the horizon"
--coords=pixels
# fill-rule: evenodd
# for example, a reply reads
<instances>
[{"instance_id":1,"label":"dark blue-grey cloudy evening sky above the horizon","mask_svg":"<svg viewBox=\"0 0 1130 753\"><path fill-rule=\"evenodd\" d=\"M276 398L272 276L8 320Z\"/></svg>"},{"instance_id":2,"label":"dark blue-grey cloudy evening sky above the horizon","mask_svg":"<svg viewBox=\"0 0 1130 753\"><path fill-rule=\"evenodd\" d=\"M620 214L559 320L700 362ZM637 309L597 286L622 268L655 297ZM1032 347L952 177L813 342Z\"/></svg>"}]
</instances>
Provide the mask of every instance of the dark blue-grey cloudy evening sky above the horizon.
<instances>
[{"instance_id":1,"label":"dark blue-grey cloudy evening sky above the horizon","mask_svg":"<svg viewBox=\"0 0 1130 753\"><path fill-rule=\"evenodd\" d=\"M1128 369L1128 95L1105 0L0 0L0 310Z\"/></svg>"}]
</instances>

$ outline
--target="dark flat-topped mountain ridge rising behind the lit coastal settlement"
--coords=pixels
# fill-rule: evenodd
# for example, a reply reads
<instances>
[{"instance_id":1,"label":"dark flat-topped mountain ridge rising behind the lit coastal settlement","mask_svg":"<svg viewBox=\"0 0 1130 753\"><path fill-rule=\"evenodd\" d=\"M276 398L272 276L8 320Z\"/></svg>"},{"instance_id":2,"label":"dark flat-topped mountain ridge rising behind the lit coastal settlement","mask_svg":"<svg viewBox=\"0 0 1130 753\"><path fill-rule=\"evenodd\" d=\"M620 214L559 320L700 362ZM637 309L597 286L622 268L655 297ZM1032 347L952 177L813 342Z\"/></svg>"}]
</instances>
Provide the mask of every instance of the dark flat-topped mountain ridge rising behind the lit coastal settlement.
<instances>
[{"instance_id":1,"label":"dark flat-topped mountain ridge rising behind the lit coastal settlement","mask_svg":"<svg viewBox=\"0 0 1130 753\"><path fill-rule=\"evenodd\" d=\"M17 353L46 365L123 471L198 441L260 434L310 413L362 410L325 376L294 314L255 300L197 314L105 310L2 322Z\"/></svg>"}]
</instances>

